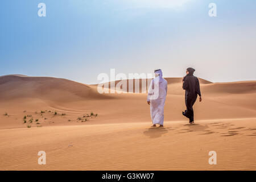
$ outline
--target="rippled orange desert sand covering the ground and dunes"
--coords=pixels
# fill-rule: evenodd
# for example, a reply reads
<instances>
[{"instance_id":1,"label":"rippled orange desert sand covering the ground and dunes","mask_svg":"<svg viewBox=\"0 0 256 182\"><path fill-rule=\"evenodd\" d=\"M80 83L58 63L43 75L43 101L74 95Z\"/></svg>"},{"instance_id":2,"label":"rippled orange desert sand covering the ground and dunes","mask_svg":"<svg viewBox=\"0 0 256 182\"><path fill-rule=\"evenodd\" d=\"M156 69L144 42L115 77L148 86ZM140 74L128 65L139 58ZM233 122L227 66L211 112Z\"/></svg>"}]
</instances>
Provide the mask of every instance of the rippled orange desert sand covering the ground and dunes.
<instances>
[{"instance_id":1,"label":"rippled orange desert sand covering the ground and dunes","mask_svg":"<svg viewBox=\"0 0 256 182\"><path fill-rule=\"evenodd\" d=\"M1 170L256 170L256 81L200 78L195 124L181 78L166 78L164 127L146 93L100 94L53 77L0 77ZM24 122L26 121L26 123ZM46 151L46 165L38 152ZM217 164L208 163L216 151Z\"/></svg>"}]
</instances>

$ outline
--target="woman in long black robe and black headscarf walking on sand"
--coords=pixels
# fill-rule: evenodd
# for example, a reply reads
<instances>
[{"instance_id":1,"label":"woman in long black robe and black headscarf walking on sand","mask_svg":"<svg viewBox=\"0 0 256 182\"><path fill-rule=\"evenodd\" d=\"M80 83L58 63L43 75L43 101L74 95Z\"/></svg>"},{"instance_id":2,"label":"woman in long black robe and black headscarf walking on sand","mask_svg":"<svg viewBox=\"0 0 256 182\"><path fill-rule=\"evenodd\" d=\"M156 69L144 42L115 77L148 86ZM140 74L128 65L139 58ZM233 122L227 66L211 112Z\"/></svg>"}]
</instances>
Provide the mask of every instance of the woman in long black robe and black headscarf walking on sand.
<instances>
[{"instance_id":1,"label":"woman in long black robe and black headscarf walking on sand","mask_svg":"<svg viewBox=\"0 0 256 182\"><path fill-rule=\"evenodd\" d=\"M197 77L193 76L196 70L193 68L188 68L187 75L183 78L183 89L185 90L185 104L187 110L182 111L182 114L189 118L189 123L194 122L194 111L193 105L196 102L197 94L200 97L200 102L202 101L199 80Z\"/></svg>"}]
</instances>

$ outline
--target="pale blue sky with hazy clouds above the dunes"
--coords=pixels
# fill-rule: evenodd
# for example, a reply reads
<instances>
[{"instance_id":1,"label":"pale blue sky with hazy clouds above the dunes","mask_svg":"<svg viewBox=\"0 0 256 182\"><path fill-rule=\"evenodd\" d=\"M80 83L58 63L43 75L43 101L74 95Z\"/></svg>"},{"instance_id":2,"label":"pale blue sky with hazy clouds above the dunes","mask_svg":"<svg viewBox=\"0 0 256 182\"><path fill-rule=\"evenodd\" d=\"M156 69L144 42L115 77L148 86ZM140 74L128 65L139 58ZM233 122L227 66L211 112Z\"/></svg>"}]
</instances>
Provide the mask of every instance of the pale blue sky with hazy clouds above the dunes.
<instances>
[{"instance_id":1,"label":"pale blue sky with hazy clouds above the dunes","mask_svg":"<svg viewBox=\"0 0 256 182\"><path fill-rule=\"evenodd\" d=\"M110 68L182 77L193 67L214 82L256 80L254 0L9 0L0 10L0 75L91 84Z\"/></svg>"}]
</instances>

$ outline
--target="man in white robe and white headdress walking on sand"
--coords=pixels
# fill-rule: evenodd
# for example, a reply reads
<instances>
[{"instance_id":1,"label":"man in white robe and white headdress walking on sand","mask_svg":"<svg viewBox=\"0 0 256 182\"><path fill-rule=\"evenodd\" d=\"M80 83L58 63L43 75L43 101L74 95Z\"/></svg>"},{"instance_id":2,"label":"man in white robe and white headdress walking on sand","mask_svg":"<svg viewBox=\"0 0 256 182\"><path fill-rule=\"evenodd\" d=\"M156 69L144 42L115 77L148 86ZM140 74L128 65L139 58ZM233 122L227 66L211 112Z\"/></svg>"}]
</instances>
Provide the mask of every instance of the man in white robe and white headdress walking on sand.
<instances>
[{"instance_id":1,"label":"man in white robe and white headdress walking on sand","mask_svg":"<svg viewBox=\"0 0 256 182\"><path fill-rule=\"evenodd\" d=\"M150 114L152 127L156 124L163 127L164 121L164 103L167 94L167 81L163 78L161 69L155 70L155 78L151 80L148 88L147 104L150 105Z\"/></svg>"}]
</instances>

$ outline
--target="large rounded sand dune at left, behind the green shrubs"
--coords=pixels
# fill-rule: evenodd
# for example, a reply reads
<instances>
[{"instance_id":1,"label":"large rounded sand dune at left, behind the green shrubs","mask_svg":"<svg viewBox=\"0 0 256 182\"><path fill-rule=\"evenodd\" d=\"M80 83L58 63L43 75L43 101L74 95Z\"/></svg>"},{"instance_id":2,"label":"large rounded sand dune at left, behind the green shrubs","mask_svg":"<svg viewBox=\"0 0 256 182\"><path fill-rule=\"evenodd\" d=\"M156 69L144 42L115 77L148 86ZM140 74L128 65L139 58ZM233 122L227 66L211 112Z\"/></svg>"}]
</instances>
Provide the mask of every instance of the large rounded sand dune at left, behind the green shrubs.
<instances>
[{"instance_id":1,"label":"large rounded sand dune at left, behind the green shrubs","mask_svg":"<svg viewBox=\"0 0 256 182\"><path fill-rule=\"evenodd\" d=\"M58 102L107 98L90 86L63 78L9 75L0 77L0 100L40 98Z\"/></svg>"}]
</instances>

